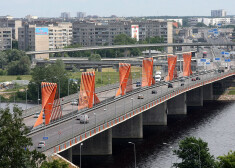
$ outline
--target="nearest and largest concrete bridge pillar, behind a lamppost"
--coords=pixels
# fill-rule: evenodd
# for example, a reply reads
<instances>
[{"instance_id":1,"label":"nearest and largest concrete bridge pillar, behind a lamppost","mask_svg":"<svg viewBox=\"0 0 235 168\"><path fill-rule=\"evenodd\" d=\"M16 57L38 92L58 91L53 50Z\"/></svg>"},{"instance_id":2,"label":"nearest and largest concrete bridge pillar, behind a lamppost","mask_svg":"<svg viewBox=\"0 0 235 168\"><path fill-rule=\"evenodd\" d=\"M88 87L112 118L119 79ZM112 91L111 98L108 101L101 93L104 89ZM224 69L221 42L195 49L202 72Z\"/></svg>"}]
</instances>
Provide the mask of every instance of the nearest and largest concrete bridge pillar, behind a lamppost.
<instances>
[{"instance_id":1,"label":"nearest and largest concrete bridge pillar, behind a lamppost","mask_svg":"<svg viewBox=\"0 0 235 168\"><path fill-rule=\"evenodd\" d=\"M112 129L108 129L83 142L82 155L111 155ZM80 145L73 147L73 155L80 155Z\"/></svg>"}]
</instances>

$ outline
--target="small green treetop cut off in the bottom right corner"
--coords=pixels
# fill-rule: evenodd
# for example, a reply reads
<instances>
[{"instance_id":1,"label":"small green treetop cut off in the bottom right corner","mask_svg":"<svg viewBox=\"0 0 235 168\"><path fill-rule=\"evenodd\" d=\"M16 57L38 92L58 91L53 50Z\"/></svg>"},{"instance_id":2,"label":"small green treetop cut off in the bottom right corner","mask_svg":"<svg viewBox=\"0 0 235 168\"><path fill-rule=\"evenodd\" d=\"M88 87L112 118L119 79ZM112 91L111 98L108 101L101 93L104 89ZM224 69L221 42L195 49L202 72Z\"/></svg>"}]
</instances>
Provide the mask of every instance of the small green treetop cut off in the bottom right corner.
<instances>
[{"instance_id":1,"label":"small green treetop cut off in the bottom right corner","mask_svg":"<svg viewBox=\"0 0 235 168\"><path fill-rule=\"evenodd\" d=\"M218 157L219 168L234 168L235 167L235 151L228 152L227 155Z\"/></svg>"}]
</instances>

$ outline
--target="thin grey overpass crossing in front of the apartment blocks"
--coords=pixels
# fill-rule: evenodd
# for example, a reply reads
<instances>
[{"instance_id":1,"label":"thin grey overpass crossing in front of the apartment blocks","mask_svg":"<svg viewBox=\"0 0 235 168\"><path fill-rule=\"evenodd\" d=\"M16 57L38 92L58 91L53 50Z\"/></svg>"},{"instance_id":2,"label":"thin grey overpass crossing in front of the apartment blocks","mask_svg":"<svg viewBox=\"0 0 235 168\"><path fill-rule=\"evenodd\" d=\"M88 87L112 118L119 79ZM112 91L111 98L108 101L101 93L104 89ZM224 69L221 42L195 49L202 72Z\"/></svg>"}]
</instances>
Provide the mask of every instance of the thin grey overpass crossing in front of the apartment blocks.
<instances>
[{"instance_id":1,"label":"thin grey overpass crossing in front of the apartment blocks","mask_svg":"<svg viewBox=\"0 0 235 168\"><path fill-rule=\"evenodd\" d=\"M92 51L106 49L127 49L127 48L148 48L148 47L199 47L199 46L235 46L235 43L157 43L157 44L132 44L132 45L112 45L112 46L92 46L80 48L66 48L46 51L28 51L27 55L33 54L49 54L49 53L64 53L76 51Z\"/></svg>"}]
</instances>

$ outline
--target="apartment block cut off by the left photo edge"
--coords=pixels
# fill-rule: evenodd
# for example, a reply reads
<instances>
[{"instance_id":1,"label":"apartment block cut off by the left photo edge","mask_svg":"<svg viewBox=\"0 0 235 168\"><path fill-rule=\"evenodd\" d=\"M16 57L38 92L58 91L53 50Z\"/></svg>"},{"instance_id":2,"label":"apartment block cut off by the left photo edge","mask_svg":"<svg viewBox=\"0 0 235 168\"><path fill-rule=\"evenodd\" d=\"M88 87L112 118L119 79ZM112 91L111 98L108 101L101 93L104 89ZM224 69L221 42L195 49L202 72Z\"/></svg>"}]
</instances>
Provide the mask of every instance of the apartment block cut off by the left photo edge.
<instances>
[{"instance_id":1,"label":"apartment block cut off by the left photo edge","mask_svg":"<svg viewBox=\"0 0 235 168\"><path fill-rule=\"evenodd\" d=\"M0 28L0 51L12 48L12 29Z\"/></svg>"}]
</instances>

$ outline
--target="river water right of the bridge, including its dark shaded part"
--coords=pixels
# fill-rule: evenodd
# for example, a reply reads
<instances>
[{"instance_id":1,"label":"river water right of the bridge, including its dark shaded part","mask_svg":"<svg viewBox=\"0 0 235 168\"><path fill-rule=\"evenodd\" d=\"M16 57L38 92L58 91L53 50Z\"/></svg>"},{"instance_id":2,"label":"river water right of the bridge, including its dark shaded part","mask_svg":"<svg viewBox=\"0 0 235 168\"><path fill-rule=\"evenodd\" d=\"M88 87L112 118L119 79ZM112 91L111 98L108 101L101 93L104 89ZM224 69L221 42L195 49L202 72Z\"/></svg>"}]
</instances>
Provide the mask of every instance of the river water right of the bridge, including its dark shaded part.
<instances>
[{"instance_id":1,"label":"river water right of the bridge, including its dark shaded part","mask_svg":"<svg viewBox=\"0 0 235 168\"><path fill-rule=\"evenodd\" d=\"M235 102L204 103L202 108L189 108L186 116L168 117L167 126L145 126L143 139L113 139L113 155L82 156L82 168L133 168L133 145L129 141L136 144L138 168L169 168L179 161L172 149L187 136L208 142L211 154L217 157L235 150L234 128ZM79 156L73 157L77 165L79 160Z\"/></svg>"}]
</instances>

